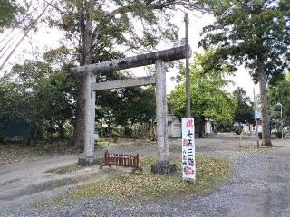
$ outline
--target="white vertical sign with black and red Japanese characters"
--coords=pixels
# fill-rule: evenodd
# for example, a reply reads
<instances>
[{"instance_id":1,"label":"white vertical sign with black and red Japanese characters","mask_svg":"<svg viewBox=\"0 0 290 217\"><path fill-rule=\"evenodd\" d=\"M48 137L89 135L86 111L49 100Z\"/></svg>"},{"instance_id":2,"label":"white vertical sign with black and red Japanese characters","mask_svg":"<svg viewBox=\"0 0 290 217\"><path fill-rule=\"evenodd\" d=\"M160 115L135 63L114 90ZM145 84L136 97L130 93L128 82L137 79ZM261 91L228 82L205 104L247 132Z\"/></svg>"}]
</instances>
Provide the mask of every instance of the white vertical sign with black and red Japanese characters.
<instances>
[{"instance_id":1,"label":"white vertical sign with black and red Japanese characters","mask_svg":"<svg viewBox=\"0 0 290 217\"><path fill-rule=\"evenodd\" d=\"M194 142L194 119L182 119L182 178L196 180L196 148Z\"/></svg>"}]
</instances>

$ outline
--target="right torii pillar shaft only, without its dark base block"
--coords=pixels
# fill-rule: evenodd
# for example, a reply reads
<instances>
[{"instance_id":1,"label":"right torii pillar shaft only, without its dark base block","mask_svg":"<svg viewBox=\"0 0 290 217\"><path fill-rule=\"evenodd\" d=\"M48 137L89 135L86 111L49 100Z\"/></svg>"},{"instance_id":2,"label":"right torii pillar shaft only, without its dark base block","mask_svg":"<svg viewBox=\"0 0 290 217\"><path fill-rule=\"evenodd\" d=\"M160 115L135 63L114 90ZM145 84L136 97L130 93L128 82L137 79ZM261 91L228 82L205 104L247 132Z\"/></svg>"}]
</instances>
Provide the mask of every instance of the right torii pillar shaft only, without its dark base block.
<instances>
[{"instance_id":1,"label":"right torii pillar shaft only, without its dark base block","mask_svg":"<svg viewBox=\"0 0 290 217\"><path fill-rule=\"evenodd\" d=\"M160 162L169 162L166 72L164 67L164 61L156 61L155 68L157 144L159 146Z\"/></svg>"}]
</instances>

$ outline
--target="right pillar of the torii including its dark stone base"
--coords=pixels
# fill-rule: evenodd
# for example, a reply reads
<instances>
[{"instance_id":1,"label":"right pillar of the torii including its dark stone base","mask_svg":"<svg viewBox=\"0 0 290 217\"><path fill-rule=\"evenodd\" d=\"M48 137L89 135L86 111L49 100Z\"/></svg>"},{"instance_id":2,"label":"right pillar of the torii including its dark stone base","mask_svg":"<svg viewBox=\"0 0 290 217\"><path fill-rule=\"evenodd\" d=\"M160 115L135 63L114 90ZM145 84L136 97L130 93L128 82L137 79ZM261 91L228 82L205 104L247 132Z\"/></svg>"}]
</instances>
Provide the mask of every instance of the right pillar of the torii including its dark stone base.
<instances>
[{"instance_id":1,"label":"right pillar of the torii including its dark stone base","mask_svg":"<svg viewBox=\"0 0 290 217\"><path fill-rule=\"evenodd\" d=\"M176 165L170 165L167 95L166 95L166 71L164 61L155 62L156 69L156 134L159 148L160 161L151 165L151 171L155 174L176 174Z\"/></svg>"}]
</instances>

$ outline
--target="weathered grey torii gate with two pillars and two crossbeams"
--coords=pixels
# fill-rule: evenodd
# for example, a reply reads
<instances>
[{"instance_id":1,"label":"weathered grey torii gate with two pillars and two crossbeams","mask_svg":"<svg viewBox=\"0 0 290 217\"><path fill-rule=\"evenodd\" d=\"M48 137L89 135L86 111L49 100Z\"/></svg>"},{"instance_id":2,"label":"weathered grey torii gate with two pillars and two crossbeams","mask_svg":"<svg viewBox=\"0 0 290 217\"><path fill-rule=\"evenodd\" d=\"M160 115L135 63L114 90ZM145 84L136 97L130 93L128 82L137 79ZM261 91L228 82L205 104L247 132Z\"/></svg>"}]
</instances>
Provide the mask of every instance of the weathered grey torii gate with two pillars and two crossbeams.
<instances>
[{"instance_id":1,"label":"weathered grey torii gate with two pillars and two crossbeams","mask_svg":"<svg viewBox=\"0 0 290 217\"><path fill-rule=\"evenodd\" d=\"M190 50L190 48L189 48ZM190 53L190 52L189 52ZM75 77L85 76L86 85L83 88L85 96L84 106L84 152L79 159L81 165L94 165L94 120L95 99L97 90L110 90L132 86L142 86L156 83L156 120L157 144L159 146L160 162L169 165L169 142L167 123L167 95L166 71L164 62L176 61L186 57L186 46L176 47L160 52L150 52L134 57L121 58L112 61L103 61L97 64L73 68L71 74ZM128 80L113 80L96 83L96 73L106 71L119 71L134 67L155 64L156 73L153 76L134 78Z\"/></svg>"}]
</instances>

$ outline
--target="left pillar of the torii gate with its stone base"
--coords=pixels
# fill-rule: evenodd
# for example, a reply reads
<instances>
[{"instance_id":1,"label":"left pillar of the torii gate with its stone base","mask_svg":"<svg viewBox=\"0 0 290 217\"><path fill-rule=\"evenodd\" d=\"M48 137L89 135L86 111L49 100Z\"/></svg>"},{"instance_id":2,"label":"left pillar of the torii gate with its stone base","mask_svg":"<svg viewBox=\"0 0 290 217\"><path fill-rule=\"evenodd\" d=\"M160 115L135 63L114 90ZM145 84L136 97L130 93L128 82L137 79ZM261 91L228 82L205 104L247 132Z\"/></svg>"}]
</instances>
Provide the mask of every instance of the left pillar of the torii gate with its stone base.
<instances>
[{"instance_id":1,"label":"left pillar of the torii gate with its stone base","mask_svg":"<svg viewBox=\"0 0 290 217\"><path fill-rule=\"evenodd\" d=\"M96 163L96 157L94 154L94 119L95 119L95 101L96 94L92 90L92 83L96 81L96 76L93 73L87 73L85 78L85 86L83 87L85 103L84 107L84 151L83 156L79 159L79 165L94 165Z\"/></svg>"}]
</instances>

